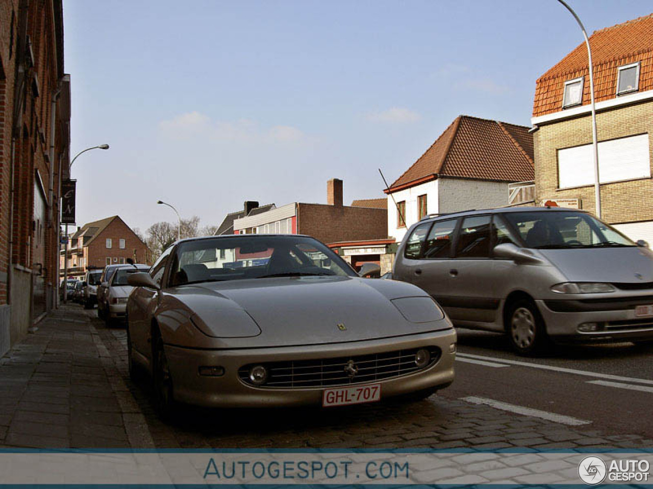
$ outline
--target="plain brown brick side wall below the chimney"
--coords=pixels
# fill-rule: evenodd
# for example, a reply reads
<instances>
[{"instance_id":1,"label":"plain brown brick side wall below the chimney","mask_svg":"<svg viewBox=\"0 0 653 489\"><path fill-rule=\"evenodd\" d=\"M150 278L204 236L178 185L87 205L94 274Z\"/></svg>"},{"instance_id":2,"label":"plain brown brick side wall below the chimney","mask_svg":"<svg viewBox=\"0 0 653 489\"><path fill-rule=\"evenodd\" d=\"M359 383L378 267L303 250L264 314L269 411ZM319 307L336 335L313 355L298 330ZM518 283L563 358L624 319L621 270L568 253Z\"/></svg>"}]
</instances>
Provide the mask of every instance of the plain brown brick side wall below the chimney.
<instances>
[{"instance_id":1,"label":"plain brown brick side wall below the chimney","mask_svg":"<svg viewBox=\"0 0 653 489\"><path fill-rule=\"evenodd\" d=\"M297 232L323 243L383 239L387 237L387 220L385 209L299 203Z\"/></svg>"}]
</instances>

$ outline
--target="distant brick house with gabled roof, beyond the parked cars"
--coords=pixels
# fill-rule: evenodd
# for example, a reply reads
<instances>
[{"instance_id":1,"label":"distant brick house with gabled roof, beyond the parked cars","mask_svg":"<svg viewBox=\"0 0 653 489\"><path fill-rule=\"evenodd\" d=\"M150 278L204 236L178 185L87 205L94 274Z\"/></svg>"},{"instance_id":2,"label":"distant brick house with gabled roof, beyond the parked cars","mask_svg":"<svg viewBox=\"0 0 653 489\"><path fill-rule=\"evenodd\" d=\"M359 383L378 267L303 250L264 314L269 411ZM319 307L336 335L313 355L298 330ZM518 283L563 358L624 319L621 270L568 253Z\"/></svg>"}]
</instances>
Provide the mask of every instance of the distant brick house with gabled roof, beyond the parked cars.
<instances>
[{"instance_id":1,"label":"distant brick house with gabled roof, beyond the parked cars","mask_svg":"<svg viewBox=\"0 0 653 489\"><path fill-rule=\"evenodd\" d=\"M59 270L63 279L65 263L61 250ZM89 268L126 263L150 263L150 250L119 216L84 224L71 236L67 246L68 276L81 278Z\"/></svg>"}]
</instances>

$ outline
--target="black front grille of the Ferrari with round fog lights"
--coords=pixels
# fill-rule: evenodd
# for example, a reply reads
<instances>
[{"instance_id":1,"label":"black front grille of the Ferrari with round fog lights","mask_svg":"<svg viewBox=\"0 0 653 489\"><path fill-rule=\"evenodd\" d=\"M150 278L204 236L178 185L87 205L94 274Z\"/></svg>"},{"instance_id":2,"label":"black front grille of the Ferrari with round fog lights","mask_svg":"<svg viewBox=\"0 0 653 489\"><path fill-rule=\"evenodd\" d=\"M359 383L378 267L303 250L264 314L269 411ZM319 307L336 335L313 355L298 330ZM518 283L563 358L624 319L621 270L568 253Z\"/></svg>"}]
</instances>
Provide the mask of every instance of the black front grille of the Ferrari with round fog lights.
<instances>
[{"instance_id":1,"label":"black front grille of the Ferrari with round fog lights","mask_svg":"<svg viewBox=\"0 0 653 489\"><path fill-rule=\"evenodd\" d=\"M392 379L412 374L418 370L425 370L436 363L441 355L440 349L435 346L425 348L428 349L431 359L422 368L415 364L415 354L419 348L411 348L351 357L249 364L238 370L238 376L244 383L253 385L249 379L249 369L255 365L263 365L268 369L268 380L264 385L257 387L304 389L306 387L355 385ZM353 377L348 376L345 370L351 364L357 368L357 373Z\"/></svg>"}]
</instances>

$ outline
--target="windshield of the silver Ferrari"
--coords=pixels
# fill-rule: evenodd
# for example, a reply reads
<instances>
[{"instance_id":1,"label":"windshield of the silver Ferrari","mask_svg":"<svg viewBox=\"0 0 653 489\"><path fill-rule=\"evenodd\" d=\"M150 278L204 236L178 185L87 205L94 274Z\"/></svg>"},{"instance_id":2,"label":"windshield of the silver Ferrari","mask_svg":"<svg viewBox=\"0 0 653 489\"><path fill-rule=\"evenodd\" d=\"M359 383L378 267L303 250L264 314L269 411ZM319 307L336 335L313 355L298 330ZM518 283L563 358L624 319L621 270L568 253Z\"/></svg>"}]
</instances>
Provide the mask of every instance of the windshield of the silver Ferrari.
<instances>
[{"instance_id":1,"label":"windshield of the silver Ferrari","mask_svg":"<svg viewBox=\"0 0 653 489\"><path fill-rule=\"evenodd\" d=\"M278 276L356 276L332 250L303 236L242 235L178 246L170 285Z\"/></svg>"}]
</instances>

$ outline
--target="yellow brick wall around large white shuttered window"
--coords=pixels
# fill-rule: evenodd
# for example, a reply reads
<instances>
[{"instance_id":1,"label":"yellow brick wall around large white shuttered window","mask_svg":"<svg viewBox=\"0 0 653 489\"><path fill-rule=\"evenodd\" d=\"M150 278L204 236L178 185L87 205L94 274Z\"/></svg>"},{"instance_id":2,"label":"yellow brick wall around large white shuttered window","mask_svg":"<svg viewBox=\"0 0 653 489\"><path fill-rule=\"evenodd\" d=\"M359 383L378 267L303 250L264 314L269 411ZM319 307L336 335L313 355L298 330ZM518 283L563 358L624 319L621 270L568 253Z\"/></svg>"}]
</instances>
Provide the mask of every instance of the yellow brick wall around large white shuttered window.
<instances>
[{"instance_id":1,"label":"yellow brick wall around large white shuttered window","mask_svg":"<svg viewBox=\"0 0 653 489\"><path fill-rule=\"evenodd\" d=\"M650 136L653 102L598 113L596 126L599 142L643 133ZM579 198L582 209L596 211L593 185L558 190L557 150L591 143L590 115L542 125L535 131L535 194L538 203L543 198ZM653 139L649 138L649 144L651 164ZM653 220L652 196L653 180L650 178L601 184L601 217L610 224Z\"/></svg>"}]
</instances>

